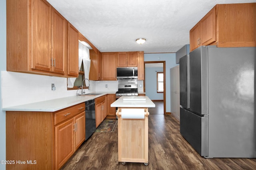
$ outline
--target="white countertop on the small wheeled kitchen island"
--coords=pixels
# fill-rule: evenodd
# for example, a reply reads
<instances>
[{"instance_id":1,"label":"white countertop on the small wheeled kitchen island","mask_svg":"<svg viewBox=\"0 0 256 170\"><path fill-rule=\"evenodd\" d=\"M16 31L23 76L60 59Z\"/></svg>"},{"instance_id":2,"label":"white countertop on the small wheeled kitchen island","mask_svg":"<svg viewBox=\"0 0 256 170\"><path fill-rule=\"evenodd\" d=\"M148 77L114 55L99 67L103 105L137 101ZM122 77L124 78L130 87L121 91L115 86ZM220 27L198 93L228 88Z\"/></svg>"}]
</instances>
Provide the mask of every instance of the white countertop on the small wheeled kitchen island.
<instances>
[{"instance_id":1,"label":"white countertop on the small wheeled kitchen island","mask_svg":"<svg viewBox=\"0 0 256 170\"><path fill-rule=\"evenodd\" d=\"M125 100L124 100L125 99ZM156 107L148 96L122 96L111 107Z\"/></svg>"}]
</instances>

